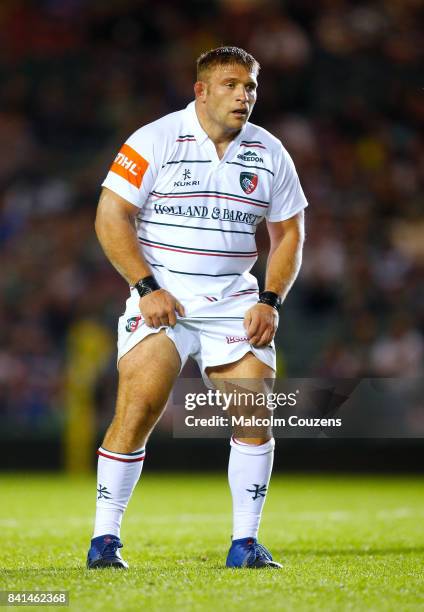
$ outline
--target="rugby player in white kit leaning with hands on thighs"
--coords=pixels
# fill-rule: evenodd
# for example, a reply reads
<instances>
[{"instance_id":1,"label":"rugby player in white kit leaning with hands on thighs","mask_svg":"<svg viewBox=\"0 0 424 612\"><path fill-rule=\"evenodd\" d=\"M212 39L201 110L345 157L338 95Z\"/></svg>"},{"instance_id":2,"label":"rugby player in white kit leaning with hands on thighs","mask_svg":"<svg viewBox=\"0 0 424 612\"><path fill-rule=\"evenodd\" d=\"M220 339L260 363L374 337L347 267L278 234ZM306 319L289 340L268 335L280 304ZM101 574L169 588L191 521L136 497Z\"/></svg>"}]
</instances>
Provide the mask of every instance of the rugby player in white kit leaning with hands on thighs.
<instances>
[{"instance_id":1,"label":"rugby player in white kit leaning with hands on thighs","mask_svg":"<svg viewBox=\"0 0 424 612\"><path fill-rule=\"evenodd\" d=\"M281 142L249 122L258 62L237 47L197 60L195 100L141 127L103 182L96 232L130 285L118 324L116 413L98 450L88 568L127 568L120 526L149 434L187 358L208 386L275 377L278 309L300 268L307 206ZM250 274L266 221L264 290ZM227 342L226 338L237 338ZM272 434L233 436L228 567L273 567L257 541L274 454Z\"/></svg>"}]
</instances>

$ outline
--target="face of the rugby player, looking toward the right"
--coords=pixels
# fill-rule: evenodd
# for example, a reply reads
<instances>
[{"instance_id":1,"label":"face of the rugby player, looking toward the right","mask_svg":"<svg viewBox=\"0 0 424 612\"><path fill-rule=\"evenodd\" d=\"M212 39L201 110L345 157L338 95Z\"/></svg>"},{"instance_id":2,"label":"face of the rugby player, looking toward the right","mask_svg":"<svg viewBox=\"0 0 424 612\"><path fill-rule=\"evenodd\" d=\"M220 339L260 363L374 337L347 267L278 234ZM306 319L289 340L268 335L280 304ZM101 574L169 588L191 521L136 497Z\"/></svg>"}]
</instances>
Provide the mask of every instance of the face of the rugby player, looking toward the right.
<instances>
[{"instance_id":1,"label":"face of the rugby player, looking toward the right","mask_svg":"<svg viewBox=\"0 0 424 612\"><path fill-rule=\"evenodd\" d=\"M212 68L203 90L209 121L223 131L239 131L252 113L257 86L256 73L240 64Z\"/></svg>"}]
</instances>

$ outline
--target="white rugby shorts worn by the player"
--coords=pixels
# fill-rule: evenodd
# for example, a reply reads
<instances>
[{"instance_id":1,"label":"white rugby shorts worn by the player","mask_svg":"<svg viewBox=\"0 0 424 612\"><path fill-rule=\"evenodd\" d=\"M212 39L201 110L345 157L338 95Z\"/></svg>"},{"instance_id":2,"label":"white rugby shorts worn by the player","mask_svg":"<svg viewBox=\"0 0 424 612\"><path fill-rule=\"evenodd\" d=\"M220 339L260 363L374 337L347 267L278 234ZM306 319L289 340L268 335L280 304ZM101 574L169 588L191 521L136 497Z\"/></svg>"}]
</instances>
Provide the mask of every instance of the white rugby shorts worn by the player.
<instances>
[{"instance_id":1,"label":"white rugby shorts worn by the player","mask_svg":"<svg viewBox=\"0 0 424 612\"><path fill-rule=\"evenodd\" d=\"M186 316L177 315L175 327L162 325L157 329L146 325L140 313L139 299L137 291L133 289L125 312L119 318L118 362L144 338L165 329L178 351L181 369L188 357L192 357L208 387L213 385L205 374L206 368L234 363L249 351L276 370L274 341L269 346L256 348L249 344L243 326L245 313L257 302L257 293L212 302L206 309L204 302L184 304Z\"/></svg>"}]
</instances>

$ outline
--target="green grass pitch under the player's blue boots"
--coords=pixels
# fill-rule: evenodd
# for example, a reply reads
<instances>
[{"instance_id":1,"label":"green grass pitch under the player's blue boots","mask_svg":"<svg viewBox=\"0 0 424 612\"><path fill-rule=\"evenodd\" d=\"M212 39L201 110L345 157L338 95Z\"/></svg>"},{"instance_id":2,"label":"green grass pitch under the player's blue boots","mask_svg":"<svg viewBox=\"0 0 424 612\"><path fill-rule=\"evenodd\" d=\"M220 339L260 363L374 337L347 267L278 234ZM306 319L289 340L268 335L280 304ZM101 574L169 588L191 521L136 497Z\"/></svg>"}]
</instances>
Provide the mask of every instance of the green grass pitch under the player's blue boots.
<instances>
[{"instance_id":1,"label":"green grass pitch under the player's blue boots","mask_svg":"<svg viewBox=\"0 0 424 612\"><path fill-rule=\"evenodd\" d=\"M0 588L68 590L71 610L424 609L418 477L274 475L260 540L280 571L225 569L224 474L142 476L122 530L127 572L84 567L94 477L3 475L0 490Z\"/></svg>"}]
</instances>

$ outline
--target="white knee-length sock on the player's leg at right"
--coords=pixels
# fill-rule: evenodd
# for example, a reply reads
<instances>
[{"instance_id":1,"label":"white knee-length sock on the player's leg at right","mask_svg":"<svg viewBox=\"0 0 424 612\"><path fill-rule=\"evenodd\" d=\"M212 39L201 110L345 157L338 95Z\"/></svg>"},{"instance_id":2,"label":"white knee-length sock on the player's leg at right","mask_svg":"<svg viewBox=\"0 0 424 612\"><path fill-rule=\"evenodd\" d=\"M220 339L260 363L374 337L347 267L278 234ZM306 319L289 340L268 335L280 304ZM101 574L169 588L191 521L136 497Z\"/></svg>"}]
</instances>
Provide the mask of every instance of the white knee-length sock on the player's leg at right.
<instances>
[{"instance_id":1,"label":"white knee-length sock on the player's leg at right","mask_svg":"<svg viewBox=\"0 0 424 612\"><path fill-rule=\"evenodd\" d=\"M256 538L271 478L274 438L254 446L231 438L228 482L233 498L233 540Z\"/></svg>"}]
</instances>

